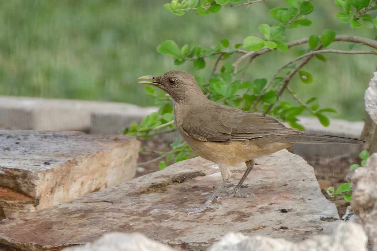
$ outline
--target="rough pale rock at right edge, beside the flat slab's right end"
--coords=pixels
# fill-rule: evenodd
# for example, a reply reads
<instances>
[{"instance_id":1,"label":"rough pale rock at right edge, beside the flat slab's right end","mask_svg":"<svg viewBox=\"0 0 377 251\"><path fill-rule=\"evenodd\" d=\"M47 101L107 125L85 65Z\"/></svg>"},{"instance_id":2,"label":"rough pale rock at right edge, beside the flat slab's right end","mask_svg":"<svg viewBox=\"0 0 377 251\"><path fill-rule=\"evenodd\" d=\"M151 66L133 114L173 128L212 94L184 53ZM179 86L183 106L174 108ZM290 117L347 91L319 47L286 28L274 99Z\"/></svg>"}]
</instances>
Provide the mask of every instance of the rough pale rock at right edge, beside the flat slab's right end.
<instances>
[{"instance_id":1,"label":"rough pale rock at right edge, beside the flat slab's right end","mask_svg":"<svg viewBox=\"0 0 377 251\"><path fill-rule=\"evenodd\" d=\"M368 158L365 166L355 170L351 181L351 207L377 251L377 153Z\"/></svg>"}]
</instances>

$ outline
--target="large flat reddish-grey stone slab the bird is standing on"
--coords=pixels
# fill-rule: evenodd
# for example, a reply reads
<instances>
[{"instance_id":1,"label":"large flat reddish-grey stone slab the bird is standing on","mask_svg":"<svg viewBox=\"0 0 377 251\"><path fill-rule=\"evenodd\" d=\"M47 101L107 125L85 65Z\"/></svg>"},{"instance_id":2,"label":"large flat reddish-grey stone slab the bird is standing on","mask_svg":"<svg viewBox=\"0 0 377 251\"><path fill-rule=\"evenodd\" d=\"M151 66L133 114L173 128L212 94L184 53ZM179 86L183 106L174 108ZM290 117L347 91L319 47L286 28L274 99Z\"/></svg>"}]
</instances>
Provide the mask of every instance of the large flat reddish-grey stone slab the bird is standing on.
<instances>
[{"instance_id":1,"label":"large flat reddish-grey stone slab the bird is standing on","mask_svg":"<svg viewBox=\"0 0 377 251\"><path fill-rule=\"evenodd\" d=\"M22 218L3 220L0 248L58 250L109 232L140 232L181 250L205 250L228 231L293 242L333 231L337 221L320 217L339 218L336 207L322 195L313 168L301 157L283 150L257 163L242 189L254 196L225 200L228 207L220 210L190 216L180 211L204 203L221 183L218 166L197 157ZM233 169L231 184L244 171Z\"/></svg>"}]
</instances>

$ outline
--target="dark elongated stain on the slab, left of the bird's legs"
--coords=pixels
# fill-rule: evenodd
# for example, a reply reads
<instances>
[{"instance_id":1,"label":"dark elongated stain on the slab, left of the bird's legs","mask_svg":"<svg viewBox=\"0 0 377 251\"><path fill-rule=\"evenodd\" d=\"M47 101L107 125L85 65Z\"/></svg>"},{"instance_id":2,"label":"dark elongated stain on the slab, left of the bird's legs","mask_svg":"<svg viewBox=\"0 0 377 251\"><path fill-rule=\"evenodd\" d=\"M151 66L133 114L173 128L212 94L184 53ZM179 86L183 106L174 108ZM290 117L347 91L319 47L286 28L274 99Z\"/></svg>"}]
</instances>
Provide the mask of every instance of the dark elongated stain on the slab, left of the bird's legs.
<instances>
[{"instance_id":1,"label":"dark elongated stain on the slab, left of the bird's legs","mask_svg":"<svg viewBox=\"0 0 377 251\"><path fill-rule=\"evenodd\" d=\"M160 183L152 183L149 187L140 187L140 193L164 193L167 191L167 187L174 183L183 183L192 180L198 176L205 176L203 172L187 172L174 175L169 181L162 181Z\"/></svg>"}]
</instances>

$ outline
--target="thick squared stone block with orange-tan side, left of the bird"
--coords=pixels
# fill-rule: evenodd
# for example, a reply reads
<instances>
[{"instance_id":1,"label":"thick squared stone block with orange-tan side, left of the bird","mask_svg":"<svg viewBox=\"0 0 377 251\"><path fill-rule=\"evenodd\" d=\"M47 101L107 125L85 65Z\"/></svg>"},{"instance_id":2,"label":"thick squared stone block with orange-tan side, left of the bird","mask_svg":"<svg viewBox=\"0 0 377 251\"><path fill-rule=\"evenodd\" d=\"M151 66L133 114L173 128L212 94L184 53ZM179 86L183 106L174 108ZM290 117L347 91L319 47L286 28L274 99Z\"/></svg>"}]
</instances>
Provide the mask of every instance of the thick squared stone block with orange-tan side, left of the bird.
<instances>
[{"instance_id":1,"label":"thick squared stone block with orange-tan side, left of the bird","mask_svg":"<svg viewBox=\"0 0 377 251\"><path fill-rule=\"evenodd\" d=\"M0 219L131 180L138 148L122 135L0 130Z\"/></svg>"}]
</instances>

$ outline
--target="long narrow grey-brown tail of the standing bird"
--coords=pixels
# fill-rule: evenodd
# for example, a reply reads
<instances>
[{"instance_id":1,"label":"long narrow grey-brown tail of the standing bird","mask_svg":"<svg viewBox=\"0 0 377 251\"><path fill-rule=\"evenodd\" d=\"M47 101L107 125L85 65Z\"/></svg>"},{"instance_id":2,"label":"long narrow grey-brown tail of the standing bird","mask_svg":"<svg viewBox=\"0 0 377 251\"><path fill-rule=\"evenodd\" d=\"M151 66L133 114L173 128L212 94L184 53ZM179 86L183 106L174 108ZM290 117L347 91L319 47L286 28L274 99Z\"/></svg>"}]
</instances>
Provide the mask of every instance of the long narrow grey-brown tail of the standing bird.
<instances>
[{"instance_id":1,"label":"long narrow grey-brown tail of the standing bird","mask_svg":"<svg viewBox=\"0 0 377 251\"><path fill-rule=\"evenodd\" d=\"M297 134L297 143L346 143L346 144L362 144L363 140L359 138L338 137L319 134Z\"/></svg>"}]
</instances>

